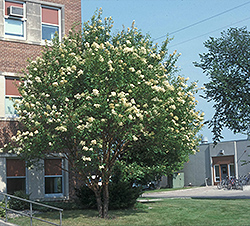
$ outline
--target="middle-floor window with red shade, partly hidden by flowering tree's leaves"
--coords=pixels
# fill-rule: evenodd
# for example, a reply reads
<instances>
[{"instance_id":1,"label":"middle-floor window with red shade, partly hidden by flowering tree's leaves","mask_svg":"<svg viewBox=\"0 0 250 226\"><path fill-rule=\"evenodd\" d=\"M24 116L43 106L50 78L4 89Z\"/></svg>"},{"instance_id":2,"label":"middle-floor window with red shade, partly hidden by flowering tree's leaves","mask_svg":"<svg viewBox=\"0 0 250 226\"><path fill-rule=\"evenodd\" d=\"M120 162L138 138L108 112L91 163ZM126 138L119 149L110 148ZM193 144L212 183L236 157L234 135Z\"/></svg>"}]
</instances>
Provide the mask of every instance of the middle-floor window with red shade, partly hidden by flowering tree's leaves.
<instances>
[{"instance_id":1,"label":"middle-floor window with red shade, partly hidden by flowering tree's leaves","mask_svg":"<svg viewBox=\"0 0 250 226\"><path fill-rule=\"evenodd\" d=\"M16 109L14 108L14 102L17 99L21 99L21 95L18 91L18 85L20 81L18 78L5 78L5 116L17 117Z\"/></svg>"}]
</instances>

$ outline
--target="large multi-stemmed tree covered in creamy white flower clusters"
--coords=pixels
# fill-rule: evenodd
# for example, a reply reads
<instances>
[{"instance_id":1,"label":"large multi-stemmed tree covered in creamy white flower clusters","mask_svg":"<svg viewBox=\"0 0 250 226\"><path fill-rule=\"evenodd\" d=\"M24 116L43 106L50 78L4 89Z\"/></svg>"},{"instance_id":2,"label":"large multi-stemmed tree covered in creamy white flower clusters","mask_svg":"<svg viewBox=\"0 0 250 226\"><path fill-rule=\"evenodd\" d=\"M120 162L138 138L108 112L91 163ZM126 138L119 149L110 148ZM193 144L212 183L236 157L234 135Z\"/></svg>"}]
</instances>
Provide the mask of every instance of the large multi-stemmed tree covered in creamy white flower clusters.
<instances>
[{"instance_id":1,"label":"large multi-stemmed tree covered in creamy white flower clusters","mask_svg":"<svg viewBox=\"0 0 250 226\"><path fill-rule=\"evenodd\" d=\"M30 61L16 105L24 129L12 141L29 163L63 153L107 217L114 164L152 157L161 170L179 166L197 147L203 114L196 84L175 76L168 40L159 48L134 24L111 35L101 13Z\"/></svg>"}]
</instances>

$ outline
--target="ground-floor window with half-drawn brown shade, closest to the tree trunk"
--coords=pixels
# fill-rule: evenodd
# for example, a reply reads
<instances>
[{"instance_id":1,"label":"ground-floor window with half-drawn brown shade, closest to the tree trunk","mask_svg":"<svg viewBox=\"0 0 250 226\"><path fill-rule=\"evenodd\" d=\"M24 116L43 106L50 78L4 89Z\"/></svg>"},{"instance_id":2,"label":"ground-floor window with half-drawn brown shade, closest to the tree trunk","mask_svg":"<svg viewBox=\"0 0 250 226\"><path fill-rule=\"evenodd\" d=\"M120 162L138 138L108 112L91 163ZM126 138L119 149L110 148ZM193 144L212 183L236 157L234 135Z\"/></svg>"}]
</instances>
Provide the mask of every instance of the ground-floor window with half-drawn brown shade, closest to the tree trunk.
<instances>
[{"instance_id":1,"label":"ground-floor window with half-drawn brown shade, closest to the tree trunk","mask_svg":"<svg viewBox=\"0 0 250 226\"><path fill-rule=\"evenodd\" d=\"M45 159L45 194L63 193L63 176L61 159Z\"/></svg>"}]
</instances>

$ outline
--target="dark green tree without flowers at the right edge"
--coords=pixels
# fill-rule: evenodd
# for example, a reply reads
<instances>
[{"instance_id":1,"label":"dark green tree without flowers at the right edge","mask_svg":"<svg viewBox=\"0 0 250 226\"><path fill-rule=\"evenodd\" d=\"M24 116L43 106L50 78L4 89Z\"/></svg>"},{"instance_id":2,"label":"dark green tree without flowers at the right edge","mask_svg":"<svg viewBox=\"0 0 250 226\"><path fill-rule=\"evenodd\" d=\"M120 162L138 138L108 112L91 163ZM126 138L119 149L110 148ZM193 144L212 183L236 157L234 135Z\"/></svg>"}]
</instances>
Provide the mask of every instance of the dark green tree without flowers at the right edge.
<instances>
[{"instance_id":1,"label":"dark green tree without flowers at the right edge","mask_svg":"<svg viewBox=\"0 0 250 226\"><path fill-rule=\"evenodd\" d=\"M246 28L230 28L221 37L204 43L208 52L200 54L196 67L210 78L205 98L214 101L215 114L208 125L214 141L223 128L247 133L250 126L250 33Z\"/></svg>"}]
</instances>

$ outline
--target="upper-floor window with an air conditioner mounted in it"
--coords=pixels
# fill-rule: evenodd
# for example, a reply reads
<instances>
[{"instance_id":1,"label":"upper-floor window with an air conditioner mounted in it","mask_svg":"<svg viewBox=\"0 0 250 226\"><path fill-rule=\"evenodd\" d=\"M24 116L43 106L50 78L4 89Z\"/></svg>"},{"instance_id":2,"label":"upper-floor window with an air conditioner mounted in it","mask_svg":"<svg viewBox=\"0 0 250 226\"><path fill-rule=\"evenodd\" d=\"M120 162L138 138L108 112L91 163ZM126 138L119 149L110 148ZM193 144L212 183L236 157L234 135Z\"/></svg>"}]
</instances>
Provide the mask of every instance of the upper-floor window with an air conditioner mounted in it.
<instances>
[{"instance_id":1,"label":"upper-floor window with an air conditioner mounted in it","mask_svg":"<svg viewBox=\"0 0 250 226\"><path fill-rule=\"evenodd\" d=\"M5 36L25 37L25 4L20 1L5 1Z\"/></svg>"}]
</instances>

